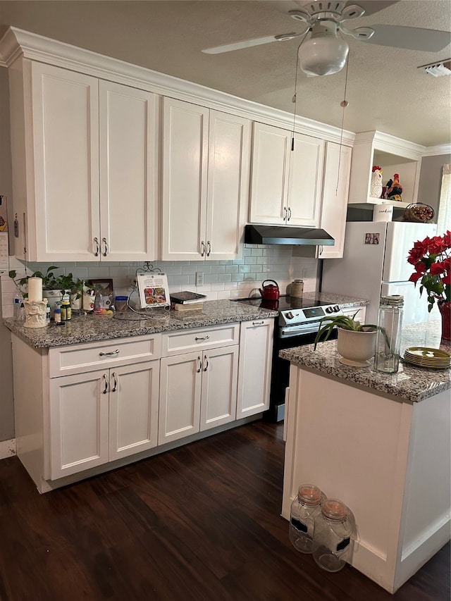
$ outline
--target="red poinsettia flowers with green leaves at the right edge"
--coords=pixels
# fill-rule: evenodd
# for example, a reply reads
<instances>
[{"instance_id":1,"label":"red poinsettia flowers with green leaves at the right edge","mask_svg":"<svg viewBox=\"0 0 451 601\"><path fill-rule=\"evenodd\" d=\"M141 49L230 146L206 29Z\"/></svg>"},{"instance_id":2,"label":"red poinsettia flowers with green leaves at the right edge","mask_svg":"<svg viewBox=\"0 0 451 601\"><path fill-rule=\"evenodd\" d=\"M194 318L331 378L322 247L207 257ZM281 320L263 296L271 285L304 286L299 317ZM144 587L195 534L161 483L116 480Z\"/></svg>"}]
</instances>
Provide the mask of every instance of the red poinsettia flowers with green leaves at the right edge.
<instances>
[{"instance_id":1,"label":"red poinsettia flowers with green leaves at the right edge","mask_svg":"<svg viewBox=\"0 0 451 601\"><path fill-rule=\"evenodd\" d=\"M426 237L415 242L409 250L407 261L415 267L410 282L420 280L420 295L423 290L428 294L428 311L433 304L443 305L451 302L451 232L443 236Z\"/></svg>"}]
</instances>

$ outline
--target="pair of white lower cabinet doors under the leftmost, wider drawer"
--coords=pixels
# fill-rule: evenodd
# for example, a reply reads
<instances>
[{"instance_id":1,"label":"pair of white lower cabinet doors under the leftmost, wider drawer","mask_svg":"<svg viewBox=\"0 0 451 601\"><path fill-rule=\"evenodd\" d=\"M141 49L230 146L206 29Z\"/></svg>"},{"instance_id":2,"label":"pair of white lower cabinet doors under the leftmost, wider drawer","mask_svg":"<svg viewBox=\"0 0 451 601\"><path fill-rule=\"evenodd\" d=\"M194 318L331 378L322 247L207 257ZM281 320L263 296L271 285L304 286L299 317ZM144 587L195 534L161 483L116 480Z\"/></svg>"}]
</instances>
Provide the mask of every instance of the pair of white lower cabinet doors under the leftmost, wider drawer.
<instances>
[{"instance_id":1,"label":"pair of white lower cabinet doors under the leftmost, wider drawer","mask_svg":"<svg viewBox=\"0 0 451 601\"><path fill-rule=\"evenodd\" d=\"M50 380L51 480L151 449L159 361Z\"/></svg>"}]
</instances>

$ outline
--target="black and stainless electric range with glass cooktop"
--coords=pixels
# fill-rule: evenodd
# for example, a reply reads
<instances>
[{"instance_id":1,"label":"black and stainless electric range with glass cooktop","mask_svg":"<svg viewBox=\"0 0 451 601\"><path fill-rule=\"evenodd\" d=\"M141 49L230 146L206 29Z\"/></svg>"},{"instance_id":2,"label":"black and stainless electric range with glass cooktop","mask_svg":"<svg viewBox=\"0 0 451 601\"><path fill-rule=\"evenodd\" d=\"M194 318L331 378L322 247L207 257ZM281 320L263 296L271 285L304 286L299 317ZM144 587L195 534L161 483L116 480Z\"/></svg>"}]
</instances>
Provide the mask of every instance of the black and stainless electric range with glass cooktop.
<instances>
[{"instance_id":1,"label":"black and stainless electric range with glass cooktop","mask_svg":"<svg viewBox=\"0 0 451 601\"><path fill-rule=\"evenodd\" d=\"M290 361L280 359L280 349L290 349L314 342L319 330L319 321L325 316L342 315L338 304L322 302L319 299L299 299L281 296L278 300L233 299L262 309L278 311L273 340L273 364L271 368L271 395L269 410L265 413L268 421L283 421L285 416L285 389L290 379ZM330 339L336 338L333 330Z\"/></svg>"}]
</instances>

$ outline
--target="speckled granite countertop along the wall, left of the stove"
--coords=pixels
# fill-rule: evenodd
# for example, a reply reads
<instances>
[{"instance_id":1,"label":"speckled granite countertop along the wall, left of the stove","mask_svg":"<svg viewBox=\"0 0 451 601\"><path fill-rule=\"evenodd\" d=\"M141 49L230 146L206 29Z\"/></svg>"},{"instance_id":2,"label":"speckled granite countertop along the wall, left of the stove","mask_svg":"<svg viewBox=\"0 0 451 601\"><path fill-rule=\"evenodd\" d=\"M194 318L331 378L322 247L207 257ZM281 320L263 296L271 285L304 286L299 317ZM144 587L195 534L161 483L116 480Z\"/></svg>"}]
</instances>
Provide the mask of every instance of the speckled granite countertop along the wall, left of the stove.
<instances>
[{"instance_id":1,"label":"speckled granite countertop along the wall, left of the stove","mask_svg":"<svg viewBox=\"0 0 451 601\"><path fill-rule=\"evenodd\" d=\"M202 309L196 311L153 309L147 314L145 312L138 314L128 309L123 314L117 313L113 316L73 316L70 322L63 326L56 326L51 322L45 328L25 328L23 320L12 317L5 318L4 324L31 347L47 348L77 345L92 340L112 340L170 330L217 326L221 323L251 321L277 315L277 311L271 309L259 309L240 302L218 300L204 302Z\"/></svg>"}]
</instances>

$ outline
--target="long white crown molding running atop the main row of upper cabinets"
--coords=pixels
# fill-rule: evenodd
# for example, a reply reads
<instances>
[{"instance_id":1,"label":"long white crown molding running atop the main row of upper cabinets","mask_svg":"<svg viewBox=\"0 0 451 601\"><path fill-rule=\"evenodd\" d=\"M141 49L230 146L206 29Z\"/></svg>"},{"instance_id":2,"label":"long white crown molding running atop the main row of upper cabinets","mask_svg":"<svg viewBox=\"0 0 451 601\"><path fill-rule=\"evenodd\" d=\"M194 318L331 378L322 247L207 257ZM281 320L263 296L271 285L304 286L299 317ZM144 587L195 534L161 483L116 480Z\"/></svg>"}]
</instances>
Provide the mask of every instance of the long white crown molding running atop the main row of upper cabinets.
<instances>
[{"instance_id":1,"label":"long white crown molding running atop the main row of upper cabinets","mask_svg":"<svg viewBox=\"0 0 451 601\"><path fill-rule=\"evenodd\" d=\"M93 77L123 83L132 87L146 89L162 96L199 104L209 109L251 119L261 120L269 125L285 129L293 128L294 117L291 113L273 109L257 102L220 92L172 75L159 73L151 69L126 63L117 58L97 54L86 49L58 42L35 33L10 27L0 40L0 64L11 66L22 56L32 61L40 61L61 68L75 70ZM354 143L354 133L340 130L309 118L296 116L295 130L305 135L321 137L323 140L338 142L348 146Z\"/></svg>"}]
</instances>

